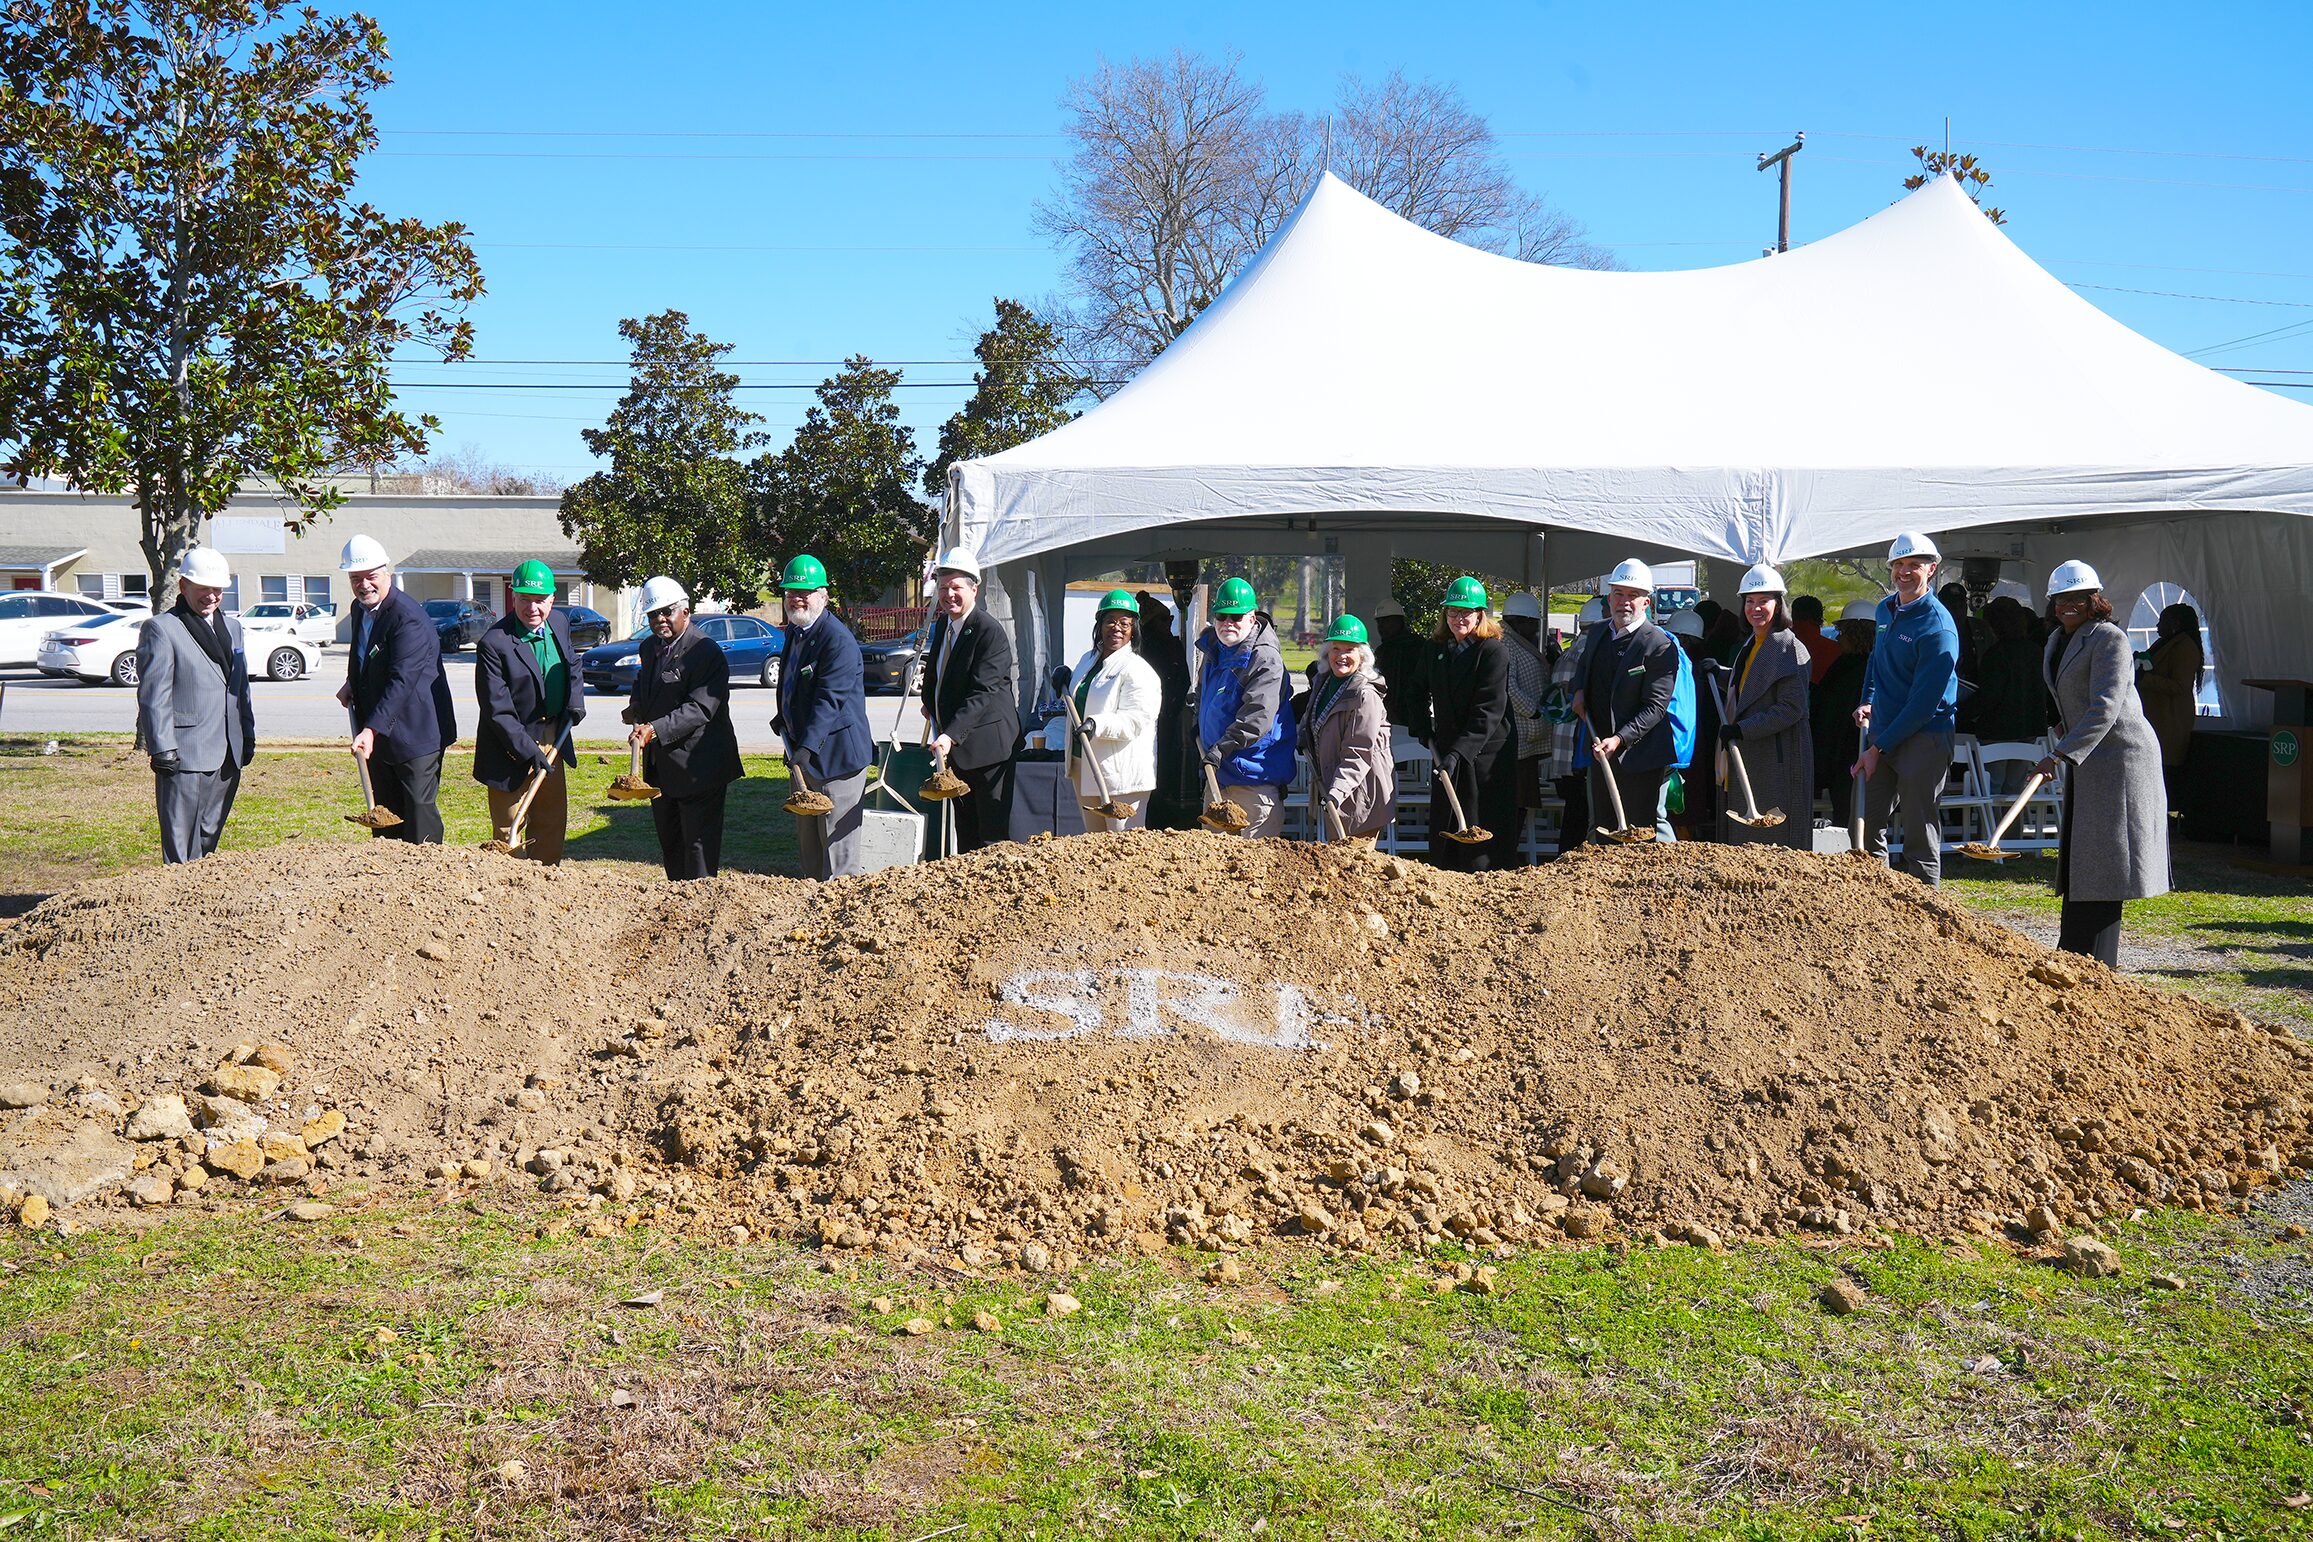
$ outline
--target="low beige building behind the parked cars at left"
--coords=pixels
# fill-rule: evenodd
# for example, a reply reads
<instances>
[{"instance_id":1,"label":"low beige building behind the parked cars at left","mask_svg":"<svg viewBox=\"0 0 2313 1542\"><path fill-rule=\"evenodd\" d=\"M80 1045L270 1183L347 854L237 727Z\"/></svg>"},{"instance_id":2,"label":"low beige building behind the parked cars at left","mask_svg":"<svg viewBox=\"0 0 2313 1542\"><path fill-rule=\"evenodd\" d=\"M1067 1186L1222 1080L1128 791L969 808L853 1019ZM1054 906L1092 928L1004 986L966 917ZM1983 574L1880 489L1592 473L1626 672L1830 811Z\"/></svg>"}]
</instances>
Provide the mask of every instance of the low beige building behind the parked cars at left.
<instances>
[{"instance_id":1,"label":"low beige building behind the parked cars at left","mask_svg":"<svg viewBox=\"0 0 2313 1542\"><path fill-rule=\"evenodd\" d=\"M287 504L266 492L243 492L208 522L204 539L234 564L227 610L305 599L345 617L338 553L349 536L365 534L384 543L396 585L414 599L472 599L497 615L507 606L513 569L537 557L555 571L562 603L601 610L611 617L611 633L625 636L627 594L585 580L557 506L550 495L347 490L338 509L296 527L284 518L294 513ZM148 576L136 541L136 509L125 497L0 488L0 590L141 596Z\"/></svg>"}]
</instances>

